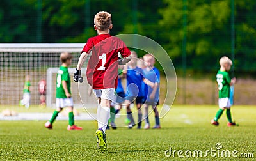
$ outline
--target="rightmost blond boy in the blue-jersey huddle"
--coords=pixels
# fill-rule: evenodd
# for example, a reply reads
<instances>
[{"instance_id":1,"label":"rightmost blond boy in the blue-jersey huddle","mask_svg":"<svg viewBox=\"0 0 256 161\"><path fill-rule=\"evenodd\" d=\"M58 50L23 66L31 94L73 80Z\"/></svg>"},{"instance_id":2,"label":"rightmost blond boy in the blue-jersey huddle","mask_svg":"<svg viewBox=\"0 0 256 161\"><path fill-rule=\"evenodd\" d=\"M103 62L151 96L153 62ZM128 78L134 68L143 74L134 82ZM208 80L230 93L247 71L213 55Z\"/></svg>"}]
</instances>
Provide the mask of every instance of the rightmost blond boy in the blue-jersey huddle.
<instances>
[{"instance_id":1,"label":"rightmost blond boy in the blue-jersey huddle","mask_svg":"<svg viewBox=\"0 0 256 161\"><path fill-rule=\"evenodd\" d=\"M159 104L159 82L160 82L160 73L159 70L154 67L155 57L152 54L145 54L143 56L145 61L145 68L143 72L145 74L145 127L144 129L150 128L150 123L148 120L148 107L152 105L152 108L155 112L155 121L156 125L153 128L161 128L159 120L159 112L157 111L157 104Z\"/></svg>"}]
</instances>

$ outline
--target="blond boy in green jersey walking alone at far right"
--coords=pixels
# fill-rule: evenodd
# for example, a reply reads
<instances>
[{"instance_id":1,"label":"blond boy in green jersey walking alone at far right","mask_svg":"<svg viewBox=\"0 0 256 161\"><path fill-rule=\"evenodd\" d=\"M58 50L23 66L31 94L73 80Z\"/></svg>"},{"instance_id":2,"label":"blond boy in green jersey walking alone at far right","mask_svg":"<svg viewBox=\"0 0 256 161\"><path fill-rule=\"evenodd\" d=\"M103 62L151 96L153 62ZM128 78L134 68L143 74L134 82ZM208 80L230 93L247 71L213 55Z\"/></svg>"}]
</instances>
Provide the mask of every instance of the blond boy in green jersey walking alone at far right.
<instances>
[{"instance_id":1,"label":"blond boy in green jersey walking alone at far right","mask_svg":"<svg viewBox=\"0 0 256 161\"><path fill-rule=\"evenodd\" d=\"M230 67L232 66L232 61L224 56L220 59L220 70L218 70L216 79L218 83L218 90L219 90L219 110L216 113L216 116L214 119L211 120L212 125L218 126L218 119L223 114L223 111L226 109L226 114L228 118L228 127L236 125L232 121L231 118L231 112L230 112L230 86L236 83L236 78L230 79L228 71L230 70Z\"/></svg>"}]
</instances>

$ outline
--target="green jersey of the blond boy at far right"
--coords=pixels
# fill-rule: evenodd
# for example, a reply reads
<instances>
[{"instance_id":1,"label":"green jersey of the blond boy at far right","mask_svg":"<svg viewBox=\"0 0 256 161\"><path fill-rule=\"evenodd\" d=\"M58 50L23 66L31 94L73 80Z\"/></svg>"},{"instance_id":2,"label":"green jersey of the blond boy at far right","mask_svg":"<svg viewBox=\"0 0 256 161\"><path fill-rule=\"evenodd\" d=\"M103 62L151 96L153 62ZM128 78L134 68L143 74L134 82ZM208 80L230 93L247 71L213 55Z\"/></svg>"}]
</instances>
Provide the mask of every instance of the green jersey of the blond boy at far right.
<instances>
[{"instance_id":1,"label":"green jersey of the blond boy at far right","mask_svg":"<svg viewBox=\"0 0 256 161\"><path fill-rule=\"evenodd\" d=\"M219 98L229 98L230 95L230 76L228 72L219 70L217 75Z\"/></svg>"}]
</instances>

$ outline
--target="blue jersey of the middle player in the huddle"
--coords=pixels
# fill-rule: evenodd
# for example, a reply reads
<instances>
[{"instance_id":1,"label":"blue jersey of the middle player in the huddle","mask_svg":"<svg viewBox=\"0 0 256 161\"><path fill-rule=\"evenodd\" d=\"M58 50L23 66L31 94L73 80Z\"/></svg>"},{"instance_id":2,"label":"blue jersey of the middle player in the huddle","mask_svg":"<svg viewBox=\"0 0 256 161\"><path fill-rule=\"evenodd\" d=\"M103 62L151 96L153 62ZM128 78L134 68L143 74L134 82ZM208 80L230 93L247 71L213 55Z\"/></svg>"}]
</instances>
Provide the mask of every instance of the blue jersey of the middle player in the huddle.
<instances>
[{"instance_id":1,"label":"blue jersey of the middle player in the huddle","mask_svg":"<svg viewBox=\"0 0 256 161\"><path fill-rule=\"evenodd\" d=\"M134 69L127 68L127 95L128 97L136 98L143 97L143 70L139 67Z\"/></svg>"}]
</instances>

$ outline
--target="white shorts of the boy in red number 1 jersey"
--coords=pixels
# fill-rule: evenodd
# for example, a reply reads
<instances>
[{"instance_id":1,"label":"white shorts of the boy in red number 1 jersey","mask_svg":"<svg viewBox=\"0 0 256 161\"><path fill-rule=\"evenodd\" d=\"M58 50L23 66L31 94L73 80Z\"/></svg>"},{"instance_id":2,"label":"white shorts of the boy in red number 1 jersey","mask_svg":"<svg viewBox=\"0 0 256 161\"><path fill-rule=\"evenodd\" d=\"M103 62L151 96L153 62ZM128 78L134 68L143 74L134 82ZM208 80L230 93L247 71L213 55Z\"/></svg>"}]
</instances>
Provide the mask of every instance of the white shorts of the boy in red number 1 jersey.
<instances>
[{"instance_id":1,"label":"white shorts of the boy in red number 1 jersey","mask_svg":"<svg viewBox=\"0 0 256 161\"><path fill-rule=\"evenodd\" d=\"M115 101L115 89L106 88L106 89L93 89L95 96L105 100Z\"/></svg>"}]
</instances>

